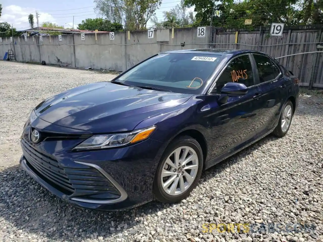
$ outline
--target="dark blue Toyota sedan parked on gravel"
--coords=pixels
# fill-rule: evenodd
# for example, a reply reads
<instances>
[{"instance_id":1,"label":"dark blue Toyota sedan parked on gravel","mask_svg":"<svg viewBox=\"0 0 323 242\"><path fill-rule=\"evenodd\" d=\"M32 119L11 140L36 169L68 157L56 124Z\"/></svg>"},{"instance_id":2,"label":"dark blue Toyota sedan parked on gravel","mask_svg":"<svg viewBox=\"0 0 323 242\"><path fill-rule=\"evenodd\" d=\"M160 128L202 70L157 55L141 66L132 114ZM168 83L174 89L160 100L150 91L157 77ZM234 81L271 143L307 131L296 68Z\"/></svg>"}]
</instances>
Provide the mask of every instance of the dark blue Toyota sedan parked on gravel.
<instances>
[{"instance_id":1,"label":"dark blue Toyota sedan parked on gravel","mask_svg":"<svg viewBox=\"0 0 323 242\"><path fill-rule=\"evenodd\" d=\"M21 166L77 206L120 210L186 198L203 170L288 132L299 80L257 51L154 55L111 82L49 97L21 136Z\"/></svg>"}]
</instances>

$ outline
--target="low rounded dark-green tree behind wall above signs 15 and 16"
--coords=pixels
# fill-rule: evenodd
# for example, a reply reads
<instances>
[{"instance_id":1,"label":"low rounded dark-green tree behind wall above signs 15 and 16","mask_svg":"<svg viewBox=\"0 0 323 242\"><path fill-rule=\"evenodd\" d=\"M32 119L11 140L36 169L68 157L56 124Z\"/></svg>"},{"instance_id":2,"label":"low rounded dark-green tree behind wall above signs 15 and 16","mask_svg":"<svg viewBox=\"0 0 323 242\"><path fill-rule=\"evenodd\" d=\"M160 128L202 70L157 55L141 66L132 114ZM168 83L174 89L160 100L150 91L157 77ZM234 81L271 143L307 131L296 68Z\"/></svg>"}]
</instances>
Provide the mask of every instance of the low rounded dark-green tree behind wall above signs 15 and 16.
<instances>
[{"instance_id":1,"label":"low rounded dark-green tree behind wall above signs 15 and 16","mask_svg":"<svg viewBox=\"0 0 323 242\"><path fill-rule=\"evenodd\" d=\"M122 24L112 23L111 21L103 18L87 18L78 24L79 30L99 30L99 31L121 31L123 30Z\"/></svg>"}]
</instances>

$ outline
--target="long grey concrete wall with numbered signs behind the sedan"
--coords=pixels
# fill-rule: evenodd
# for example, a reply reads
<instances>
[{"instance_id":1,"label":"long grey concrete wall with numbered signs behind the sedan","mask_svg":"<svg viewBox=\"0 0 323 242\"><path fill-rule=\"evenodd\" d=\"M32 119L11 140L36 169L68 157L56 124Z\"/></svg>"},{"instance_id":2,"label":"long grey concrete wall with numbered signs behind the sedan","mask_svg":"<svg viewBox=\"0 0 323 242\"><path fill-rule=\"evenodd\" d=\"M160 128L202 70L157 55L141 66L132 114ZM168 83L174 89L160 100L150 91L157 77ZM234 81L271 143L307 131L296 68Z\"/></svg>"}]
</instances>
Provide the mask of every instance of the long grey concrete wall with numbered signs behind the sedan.
<instances>
[{"instance_id":1,"label":"long grey concrete wall with numbered signs behind the sedan","mask_svg":"<svg viewBox=\"0 0 323 242\"><path fill-rule=\"evenodd\" d=\"M92 67L125 71L142 60L161 51L174 49L206 48L210 39L210 27L206 27L205 37L197 37L197 28L155 30L154 38L148 39L147 30L115 32L114 40L105 33L89 33L81 39L81 34L10 37L0 42L0 56L11 48L17 61L41 62L79 68ZM184 47L181 43L184 43ZM14 44L15 43L15 44Z\"/></svg>"}]
</instances>

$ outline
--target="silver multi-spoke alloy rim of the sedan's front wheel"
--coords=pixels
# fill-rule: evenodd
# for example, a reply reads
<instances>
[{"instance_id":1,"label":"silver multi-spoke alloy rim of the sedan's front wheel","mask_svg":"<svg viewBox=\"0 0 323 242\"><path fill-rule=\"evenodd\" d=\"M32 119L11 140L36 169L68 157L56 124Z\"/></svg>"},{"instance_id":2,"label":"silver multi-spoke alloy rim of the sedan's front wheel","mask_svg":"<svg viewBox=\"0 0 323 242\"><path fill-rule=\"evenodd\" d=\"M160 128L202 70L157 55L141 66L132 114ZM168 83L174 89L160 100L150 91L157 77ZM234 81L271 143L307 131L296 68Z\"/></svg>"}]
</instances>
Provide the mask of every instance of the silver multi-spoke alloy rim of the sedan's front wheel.
<instances>
[{"instance_id":1,"label":"silver multi-spoke alloy rim of the sedan's front wheel","mask_svg":"<svg viewBox=\"0 0 323 242\"><path fill-rule=\"evenodd\" d=\"M196 151L189 146L176 148L167 157L161 171L161 186L171 196L184 193L194 182L199 167Z\"/></svg>"}]
</instances>

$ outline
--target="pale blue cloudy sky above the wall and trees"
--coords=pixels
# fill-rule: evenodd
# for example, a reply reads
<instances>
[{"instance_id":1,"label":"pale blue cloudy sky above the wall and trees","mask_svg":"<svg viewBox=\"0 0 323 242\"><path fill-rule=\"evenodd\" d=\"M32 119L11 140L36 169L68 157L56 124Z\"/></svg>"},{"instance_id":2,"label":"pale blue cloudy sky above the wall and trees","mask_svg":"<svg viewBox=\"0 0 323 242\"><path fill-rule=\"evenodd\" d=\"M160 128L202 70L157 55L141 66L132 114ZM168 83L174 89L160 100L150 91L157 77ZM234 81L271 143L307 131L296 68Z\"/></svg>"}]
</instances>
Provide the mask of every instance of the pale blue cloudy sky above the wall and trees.
<instances>
[{"instance_id":1,"label":"pale blue cloudy sky above the wall and trees","mask_svg":"<svg viewBox=\"0 0 323 242\"><path fill-rule=\"evenodd\" d=\"M28 29L28 15L34 15L35 26L36 24L36 11L39 15L39 25L43 22L52 22L58 25L62 25L65 28L71 28L73 26L74 15L74 28L86 18L101 17L94 11L93 1L86 0L65 0L60 1L58 4L52 0L2 0L2 14L0 22L8 22L13 24L16 30ZM162 4L159 10L156 11L156 16L159 21L163 20L163 11L169 11L171 8L180 4L180 0L162 0ZM192 11L193 9L189 9ZM147 27L152 26L149 21Z\"/></svg>"}]
</instances>

